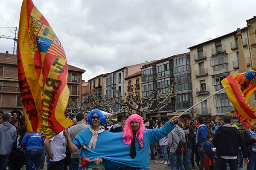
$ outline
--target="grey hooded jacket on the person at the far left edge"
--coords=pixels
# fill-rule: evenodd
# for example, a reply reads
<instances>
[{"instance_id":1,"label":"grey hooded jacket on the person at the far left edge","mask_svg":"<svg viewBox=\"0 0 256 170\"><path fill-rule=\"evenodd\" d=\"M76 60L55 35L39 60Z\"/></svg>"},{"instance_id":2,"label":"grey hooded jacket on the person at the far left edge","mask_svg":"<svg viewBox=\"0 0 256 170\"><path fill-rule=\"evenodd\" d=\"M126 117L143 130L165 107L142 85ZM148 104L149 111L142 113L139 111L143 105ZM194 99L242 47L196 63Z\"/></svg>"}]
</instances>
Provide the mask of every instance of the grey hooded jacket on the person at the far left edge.
<instances>
[{"instance_id":1,"label":"grey hooded jacket on the person at the far left edge","mask_svg":"<svg viewBox=\"0 0 256 170\"><path fill-rule=\"evenodd\" d=\"M9 122L0 124L0 155L11 153L12 144L16 140L16 128Z\"/></svg>"}]
</instances>

